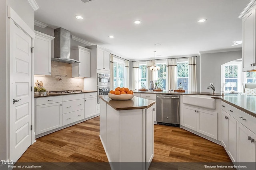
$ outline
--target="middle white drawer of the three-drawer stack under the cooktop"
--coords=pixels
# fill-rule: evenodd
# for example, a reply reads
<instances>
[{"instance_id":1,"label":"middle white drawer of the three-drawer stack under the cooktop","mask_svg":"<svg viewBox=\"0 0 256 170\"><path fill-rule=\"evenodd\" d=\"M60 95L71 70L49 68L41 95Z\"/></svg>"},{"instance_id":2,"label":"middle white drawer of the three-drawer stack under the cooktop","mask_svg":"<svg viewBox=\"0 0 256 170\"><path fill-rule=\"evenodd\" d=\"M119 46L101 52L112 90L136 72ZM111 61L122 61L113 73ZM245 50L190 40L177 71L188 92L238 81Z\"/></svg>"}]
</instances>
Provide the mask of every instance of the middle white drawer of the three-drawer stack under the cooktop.
<instances>
[{"instance_id":1,"label":"middle white drawer of the three-drawer stack under the cooktop","mask_svg":"<svg viewBox=\"0 0 256 170\"><path fill-rule=\"evenodd\" d=\"M62 114L84 109L84 99L62 102Z\"/></svg>"}]
</instances>

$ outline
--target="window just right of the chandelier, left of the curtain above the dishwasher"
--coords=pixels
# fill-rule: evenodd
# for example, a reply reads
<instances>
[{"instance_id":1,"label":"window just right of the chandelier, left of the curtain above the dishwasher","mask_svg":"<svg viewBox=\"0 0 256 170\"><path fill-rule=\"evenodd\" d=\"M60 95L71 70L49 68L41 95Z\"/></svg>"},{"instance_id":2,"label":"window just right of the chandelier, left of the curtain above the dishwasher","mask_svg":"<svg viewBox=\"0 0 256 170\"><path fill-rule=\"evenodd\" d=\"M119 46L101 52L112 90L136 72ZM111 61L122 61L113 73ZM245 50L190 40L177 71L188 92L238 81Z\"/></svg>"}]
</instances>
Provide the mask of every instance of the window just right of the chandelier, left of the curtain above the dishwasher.
<instances>
[{"instance_id":1,"label":"window just right of the chandelier, left of the curtain above the dishwasher","mask_svg":"<svg viewBox=\"0 0 256 170\"><path fill-rule=\"evenodd\" d=\"M160 67L157 74L157 80L159 82L158 87L166 89L166 61L157 62L156 66Z\"/></svg>"}]
</instances>

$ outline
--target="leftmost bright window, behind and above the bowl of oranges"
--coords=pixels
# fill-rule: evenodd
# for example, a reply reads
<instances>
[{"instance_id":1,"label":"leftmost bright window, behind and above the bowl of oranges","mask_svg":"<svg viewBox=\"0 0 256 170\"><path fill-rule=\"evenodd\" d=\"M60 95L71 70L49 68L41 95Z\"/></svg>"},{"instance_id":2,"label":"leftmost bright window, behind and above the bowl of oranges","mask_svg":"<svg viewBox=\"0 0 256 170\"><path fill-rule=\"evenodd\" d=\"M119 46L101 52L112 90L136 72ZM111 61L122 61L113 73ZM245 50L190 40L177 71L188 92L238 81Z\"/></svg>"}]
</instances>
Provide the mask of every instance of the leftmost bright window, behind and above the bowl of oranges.
<instances>
[{"instance_id":1,"label":"leftmost bright window, behind and above the bowl of oranges","mask_svg":"<svg viewBox=\"0 0 256 170\"><path fill-rule=\"evenodd\" d=\"M124 61L114 59L114 88L124 86Z\"/></svg>"}]
</instances>

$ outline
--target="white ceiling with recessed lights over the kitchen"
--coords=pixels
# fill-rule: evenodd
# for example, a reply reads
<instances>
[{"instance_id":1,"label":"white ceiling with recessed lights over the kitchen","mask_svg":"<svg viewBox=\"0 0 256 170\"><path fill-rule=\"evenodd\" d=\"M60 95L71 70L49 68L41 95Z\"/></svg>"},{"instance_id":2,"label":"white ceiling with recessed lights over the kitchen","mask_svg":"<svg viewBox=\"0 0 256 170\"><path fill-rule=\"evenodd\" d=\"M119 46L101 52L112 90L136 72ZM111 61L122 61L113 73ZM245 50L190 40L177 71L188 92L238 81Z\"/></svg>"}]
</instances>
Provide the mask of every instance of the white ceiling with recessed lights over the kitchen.
<instances>
[{"instance_id":1,"label":"white ceiling with recessed lights over the kitchen","mask_svg":"<svg viewBox=\"0 0 256 170\"><path fill-rule=\"evenodd\" d=\"M242 40L238 15L249 1L36 0L35 20L67 29L125 59L152 59L153 51L156 58L193 56L199 51L242 47L231 45ZM77 20L76 15L84 19ZM207 21L198 23L202 18Z\"/></svg>"}]
</instances>

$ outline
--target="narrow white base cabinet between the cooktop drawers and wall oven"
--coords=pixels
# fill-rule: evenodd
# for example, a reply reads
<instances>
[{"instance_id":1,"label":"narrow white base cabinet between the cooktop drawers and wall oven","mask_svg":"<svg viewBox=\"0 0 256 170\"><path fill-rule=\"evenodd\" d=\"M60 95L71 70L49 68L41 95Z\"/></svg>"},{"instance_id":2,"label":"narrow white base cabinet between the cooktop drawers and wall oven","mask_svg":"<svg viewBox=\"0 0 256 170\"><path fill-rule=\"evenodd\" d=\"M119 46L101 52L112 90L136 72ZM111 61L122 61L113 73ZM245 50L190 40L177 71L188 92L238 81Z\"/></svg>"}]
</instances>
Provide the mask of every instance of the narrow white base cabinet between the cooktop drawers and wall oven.
<instances>
[{"instance_id":1,"label":"narrow white base cabinet between the cooktop drawers and wall oven","mask_svg":"<svg viewBox=\"0 0 256 170\"><path fill-rule=\"evenodd\" d=\"M97 114L98 101L96 96L96 92L84 94L84 118L91 117Z\"/></svg>"}]
</instances>

